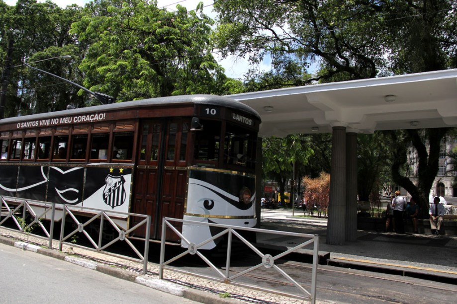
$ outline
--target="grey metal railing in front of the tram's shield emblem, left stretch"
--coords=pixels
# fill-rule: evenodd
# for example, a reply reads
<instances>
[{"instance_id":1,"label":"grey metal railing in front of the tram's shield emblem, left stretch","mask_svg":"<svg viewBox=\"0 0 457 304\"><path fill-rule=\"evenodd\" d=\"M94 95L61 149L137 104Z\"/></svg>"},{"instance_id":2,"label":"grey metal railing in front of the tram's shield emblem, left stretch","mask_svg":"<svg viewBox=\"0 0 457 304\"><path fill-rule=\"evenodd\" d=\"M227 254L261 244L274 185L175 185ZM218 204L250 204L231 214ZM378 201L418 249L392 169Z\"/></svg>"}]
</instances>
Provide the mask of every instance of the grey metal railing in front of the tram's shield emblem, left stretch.
<instances>
[{"instance_id":1,"label":"grey metal railing in front of the tram's shield emblem, left stretch","mask_svg":"<svg viewBox=\"0 0 457 304\"><path fill-rule=\"evenodd\" d=\"M94 208L87 208L87 207L77 207L77 206L72 206L72 205L62 205L62 204L55 204L55 203L47 203L47 202L41 202L41 201L33 201L33 200L26 200L26 199L18 199L14 197L6 197L6 196L0 196L0 207L1 207L1 212L0 212L0 226L2 226L5 229L8 230L13 230L17 231L16 229L12 228L7 228L3 226L3 224L8 220L11 219L14 223L14 225L17 227L19 232L21 233L29 233L31 228L34 228L34 225L38 225L41 230L44 232L46 237L43 237L38 234L32 234L33 236L40 237L40 238L45 238L49 239L49 248L52 249L52 241L53 241L53 232L54 232L54 223L56 220L56 211L62 215L62 220L61 220L61 229L60 229L60 237L59 237L59 250L62 251L63 244L67 244L73 247L80 247L92 251L97 251L97 252L103 252L109 255L114 255L117 256L114 253L105 251L107 247L115 243L116 241L125 241L130 248L135 252L135 254L138 256L138 259L131 258L132 260L135 261L141 261L143 263L143 274L146 274L147 272L147 265L148 265L148 255L149 255L149 236L150 236L150 229L151 229L151 216L147 215L142 215L142 214L135 214L135 213L126 213L126 212L115 212L115 211L109 211L106 212L105 210L100 210L100 209L94 209ZM49 212L51 211L51 215L49 215ZM81 222L75 213L77 212L83 212L86 216L85 217L80 217L79 219L88 219L85 222ZM142 221L140 221L138 224L135 226L129 228L129 229L124 229L117 225L115 223L115 218L116 216L122 217L122 218L127 218L127 217L138 217L138 218L143 218ZM30 220L30 218L33 220ZM69 222L73 221L73 223L76 225L76 229L71 231L70 233L65 235L65 223L67 220L67 217L69 217ZM27 219L28 223L27 224ZM50 221L50 229L49 231L46 229L46 227L43 225L42 220L49 220ZM98 228L99 234L98 234L98 241L94 241L93 236L87 231L89 226L95 225L94 221L99 220L99 225L96 227ZM114 239L112 239L110 242L106 244L102 244L102 233L103 233L103 226L104 223L108 222L111 225L111 228L113 231L116 231L118 234ZM128 234L133 232L135 229L140 228L141 226L146 225L146 236L145 236L145 243L144 243L144 254L141 254L138 249L133 245L133 243L128 239ZM71 237L77 235L77 233L83 233L93 248L87 247L87 246L82 246L79 244L76 244L72 241L67 241ZM127 258L125 256L122 256L122 258Z\"/></svg>"}]
</instances>

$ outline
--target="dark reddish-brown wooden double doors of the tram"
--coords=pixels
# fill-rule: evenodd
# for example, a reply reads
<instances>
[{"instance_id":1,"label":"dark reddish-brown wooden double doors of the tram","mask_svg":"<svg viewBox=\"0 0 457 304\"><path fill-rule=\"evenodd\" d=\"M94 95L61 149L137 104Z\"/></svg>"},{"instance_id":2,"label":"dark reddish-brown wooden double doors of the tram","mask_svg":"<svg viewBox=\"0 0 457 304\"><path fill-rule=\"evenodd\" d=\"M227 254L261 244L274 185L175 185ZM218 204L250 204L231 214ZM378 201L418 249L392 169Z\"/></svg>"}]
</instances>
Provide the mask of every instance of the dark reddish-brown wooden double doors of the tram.
<instances>
[{"instance_id":1,"label":"dark reddish-brown wooden double doors of the tram","mask_svg":"<svg viewBox=\"0 0 457 304\"><path fill-rule=\"evenodd\" d=\"M183 218L188 123L177 119L148 120L142 123L141 130L132 212L151 216L150 237L158 239L163 217ZM133 218L132 224L139 220ZM136 234L145 236L146 230L138 229ZM168 232L167 240L179 238Z\"/></svg>"}]
</instances>

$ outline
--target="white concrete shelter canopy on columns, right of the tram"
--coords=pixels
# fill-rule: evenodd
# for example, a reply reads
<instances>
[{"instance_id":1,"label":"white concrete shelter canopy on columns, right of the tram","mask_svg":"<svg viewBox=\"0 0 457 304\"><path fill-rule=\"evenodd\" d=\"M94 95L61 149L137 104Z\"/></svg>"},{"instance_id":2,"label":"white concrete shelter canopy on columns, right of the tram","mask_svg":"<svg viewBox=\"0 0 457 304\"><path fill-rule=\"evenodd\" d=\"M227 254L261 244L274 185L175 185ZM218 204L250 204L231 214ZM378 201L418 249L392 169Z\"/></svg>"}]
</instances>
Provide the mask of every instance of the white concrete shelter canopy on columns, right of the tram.
<instances>
[{"instance_id":1,"label":"white concrete shelter canopy on columns, right of the tram","mask_svg":"<svg viewBox=\"0 0 457 304\"><path fill-rule=\"evenodd\" d=\"M263 137L329 133L333 126L358 133L457 126L457 69L227 97L260 114Z\"/></svg>"}]
</instances>

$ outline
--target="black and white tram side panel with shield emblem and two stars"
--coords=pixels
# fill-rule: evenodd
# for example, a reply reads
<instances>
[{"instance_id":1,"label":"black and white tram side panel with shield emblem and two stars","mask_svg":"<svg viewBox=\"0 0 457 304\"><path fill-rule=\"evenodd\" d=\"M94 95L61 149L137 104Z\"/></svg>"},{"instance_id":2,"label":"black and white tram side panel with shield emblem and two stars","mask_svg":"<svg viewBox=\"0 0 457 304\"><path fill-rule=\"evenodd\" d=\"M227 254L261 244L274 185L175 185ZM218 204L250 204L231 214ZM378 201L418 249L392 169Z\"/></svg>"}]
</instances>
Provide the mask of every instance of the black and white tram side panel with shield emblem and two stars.
<instances>
[{"instance_id":1,"label":"black and white tram side panel with shield emblem and two stars","mask_svg":"<svg viewBox=\"0 0 457 304\"><path fill-rule=\"evenodd\" d=\"M96 208L108 214L129 212L131 167L1 165L1 170L1 195ZM127 216L113 215L119 226L127 228Z\"/></svg>"}]
</instances>

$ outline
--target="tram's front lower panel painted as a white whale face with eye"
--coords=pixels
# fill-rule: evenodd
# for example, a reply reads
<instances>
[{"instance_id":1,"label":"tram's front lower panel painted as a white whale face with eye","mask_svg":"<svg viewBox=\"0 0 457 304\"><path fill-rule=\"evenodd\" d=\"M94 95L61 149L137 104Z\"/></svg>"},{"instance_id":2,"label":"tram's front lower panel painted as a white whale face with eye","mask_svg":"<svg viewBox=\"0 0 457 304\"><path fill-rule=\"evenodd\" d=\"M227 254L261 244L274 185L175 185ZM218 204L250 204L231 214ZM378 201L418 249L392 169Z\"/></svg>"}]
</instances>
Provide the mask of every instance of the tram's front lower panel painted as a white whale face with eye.
<instances>
[{"instance_id":1,"label":"tram's front lower panel painted as a white whale face with eye","mask_svg":"<svg viewBox=\"0 0 457 304\"><path fill-rule=\"evenodd\" d=\"M184 220L255 227L255 177L241 173L212 170L190 170ZM208 226L184 224L183 236L198 244L219 231ZM183 247L188 247L185 241ZM200 249L212 249L211 241Z\"/></svg>"}]
</instances>

